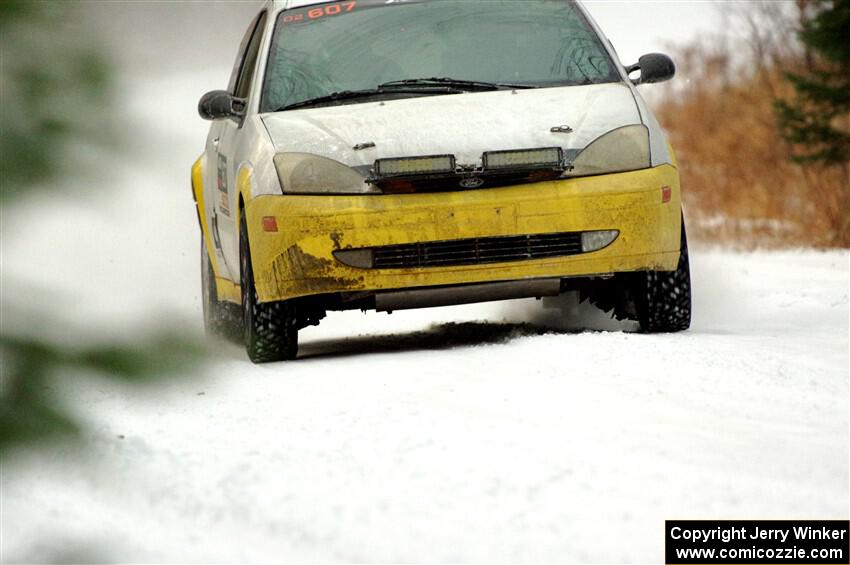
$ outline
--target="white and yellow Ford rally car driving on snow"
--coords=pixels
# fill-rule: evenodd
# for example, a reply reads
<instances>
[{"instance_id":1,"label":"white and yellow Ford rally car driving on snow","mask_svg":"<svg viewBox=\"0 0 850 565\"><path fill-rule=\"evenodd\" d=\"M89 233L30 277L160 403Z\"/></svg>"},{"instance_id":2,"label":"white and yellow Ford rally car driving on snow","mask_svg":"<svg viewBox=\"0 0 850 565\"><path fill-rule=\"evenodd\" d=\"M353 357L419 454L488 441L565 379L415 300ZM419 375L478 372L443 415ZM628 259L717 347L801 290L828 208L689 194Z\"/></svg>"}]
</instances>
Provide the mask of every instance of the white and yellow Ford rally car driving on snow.
<instances>
[{"instance_id":1,"label":"white and yellow Ford rally car driving on snow","mask_svg":"<svg viewBox=\"0 0 850 565\"><path fill-rule=\"evenodd\" d=\"M673 150L571 0L269 2L192 168L203 306L254 362L329 310L580 291L643 331L689 327Z\"/></svg>"}]
</instances>

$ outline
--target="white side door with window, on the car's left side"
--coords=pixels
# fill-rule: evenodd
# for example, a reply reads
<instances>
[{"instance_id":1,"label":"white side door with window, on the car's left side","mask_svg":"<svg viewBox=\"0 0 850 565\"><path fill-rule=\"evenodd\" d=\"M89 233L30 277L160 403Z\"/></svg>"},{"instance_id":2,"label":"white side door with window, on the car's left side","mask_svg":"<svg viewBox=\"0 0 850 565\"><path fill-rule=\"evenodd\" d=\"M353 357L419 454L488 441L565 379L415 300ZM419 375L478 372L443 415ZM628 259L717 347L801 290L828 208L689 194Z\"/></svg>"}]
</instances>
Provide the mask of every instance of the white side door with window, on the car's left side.
<instances>
[{"instance_id":1,"label":"white side door with window, on the car's left side","mask_svg":"<svg viewBox=\"0 0 850 565\"><path fill-rule=\"evenodd\" d=\"M265 28L266 12L254 18L242 43L233 66L228 92L247 102L256 71L260 40ZM245 104L247 107L247 103ZM245 118L230 117L216 121L210 130L210 149L207 167L207 186L213 188L215 198L210 225L216 250L221 254L227 273L234 282L239 280L239 226L237 221L238 188L236 177L242 164L240 146L250 143L244 133Z\"/></svg>"}]
</instances>

